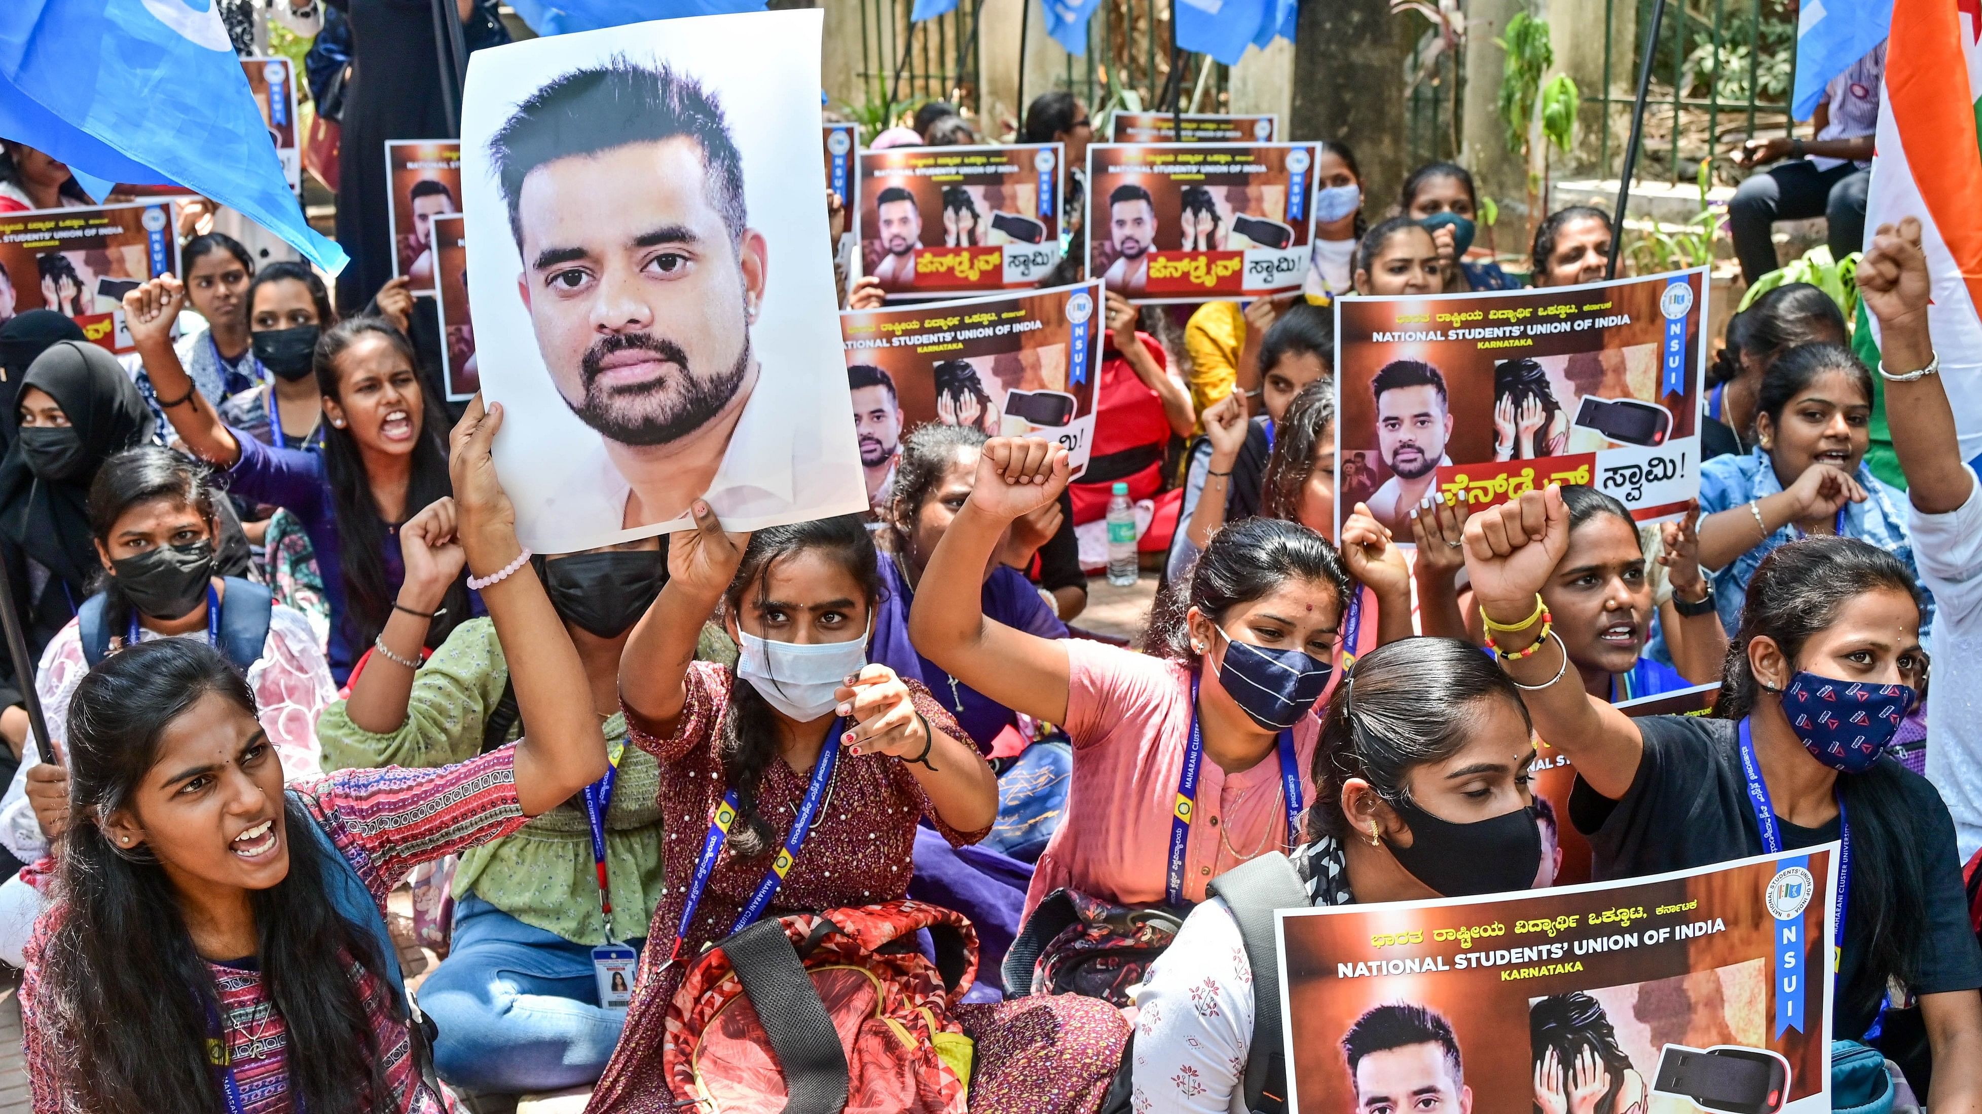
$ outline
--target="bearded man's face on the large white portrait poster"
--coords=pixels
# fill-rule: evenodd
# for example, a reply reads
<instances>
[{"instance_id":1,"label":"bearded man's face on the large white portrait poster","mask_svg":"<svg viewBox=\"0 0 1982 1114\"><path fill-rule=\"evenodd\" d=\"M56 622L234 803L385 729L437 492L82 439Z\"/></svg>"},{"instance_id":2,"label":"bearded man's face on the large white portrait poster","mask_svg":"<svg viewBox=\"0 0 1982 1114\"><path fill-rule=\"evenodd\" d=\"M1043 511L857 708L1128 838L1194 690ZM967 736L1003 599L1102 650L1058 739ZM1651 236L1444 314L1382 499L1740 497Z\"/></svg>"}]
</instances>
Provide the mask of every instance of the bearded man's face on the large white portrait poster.
<instances>
[{"instance_id":1,"label":"bearded man's face on the large white portrait poster","mask_svg":"<svg viewBox=\"0 0 1982 1114\"><path fill-rule=\"evenodd\" d=\"M767 250L751 230L731 242L698 141L543 163L517 192L517 230L537 349L585 424L668 444L735 396Z\"/></svg>"}]
</instances>

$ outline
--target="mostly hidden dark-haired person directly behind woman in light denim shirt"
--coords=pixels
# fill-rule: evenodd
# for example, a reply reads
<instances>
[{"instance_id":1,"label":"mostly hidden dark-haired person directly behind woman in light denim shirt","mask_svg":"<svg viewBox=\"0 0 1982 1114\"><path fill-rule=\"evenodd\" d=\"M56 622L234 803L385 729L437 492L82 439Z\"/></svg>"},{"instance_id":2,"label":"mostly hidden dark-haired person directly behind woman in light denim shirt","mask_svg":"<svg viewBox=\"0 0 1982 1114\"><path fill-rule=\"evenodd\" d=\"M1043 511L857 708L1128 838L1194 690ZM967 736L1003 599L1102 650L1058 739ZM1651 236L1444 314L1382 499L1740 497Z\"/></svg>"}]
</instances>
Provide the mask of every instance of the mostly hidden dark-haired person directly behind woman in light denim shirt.
<instances>
[{"instance_id":1,"label":"mostly hidden dark-haired person directly behind woman in light denim shirt","mask_svg":"<svg viewBox=\"0 0 1982 1114\"><path fill-rule=\"evenodd\" d=\"M1728 343L1708 369L1703 458L1748 452L1756 394L1776 359L1798 345L1849 345L1845 315L1831 295L1808 281L1782 283L1728 319Z\"/></svg>"}]
</instances>

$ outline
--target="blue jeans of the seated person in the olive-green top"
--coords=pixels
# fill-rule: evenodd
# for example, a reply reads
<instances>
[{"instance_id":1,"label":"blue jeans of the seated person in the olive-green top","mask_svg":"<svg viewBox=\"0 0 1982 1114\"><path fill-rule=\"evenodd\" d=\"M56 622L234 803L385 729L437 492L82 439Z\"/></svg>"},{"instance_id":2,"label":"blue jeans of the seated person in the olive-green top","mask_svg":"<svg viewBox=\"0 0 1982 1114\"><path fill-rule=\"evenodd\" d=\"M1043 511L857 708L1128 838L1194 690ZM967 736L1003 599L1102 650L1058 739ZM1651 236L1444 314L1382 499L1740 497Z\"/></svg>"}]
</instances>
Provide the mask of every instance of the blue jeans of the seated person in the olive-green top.
<instances>
[{"instance_id":1,"label":"blue jeans of the seated person in the olive-green top","mask_svg":"<svg viewBox=\"0 0 1982 1114\"><path fill-rule=\"evenodd\" d=\"M644 940L628 942L638 949ZM488 1094L599 1082L626 1011L601 1009L593 949L531 928L468 894L454 906L454 947L420 985L434 1019L434 1068Z\"/></svg>"}]
</instances>

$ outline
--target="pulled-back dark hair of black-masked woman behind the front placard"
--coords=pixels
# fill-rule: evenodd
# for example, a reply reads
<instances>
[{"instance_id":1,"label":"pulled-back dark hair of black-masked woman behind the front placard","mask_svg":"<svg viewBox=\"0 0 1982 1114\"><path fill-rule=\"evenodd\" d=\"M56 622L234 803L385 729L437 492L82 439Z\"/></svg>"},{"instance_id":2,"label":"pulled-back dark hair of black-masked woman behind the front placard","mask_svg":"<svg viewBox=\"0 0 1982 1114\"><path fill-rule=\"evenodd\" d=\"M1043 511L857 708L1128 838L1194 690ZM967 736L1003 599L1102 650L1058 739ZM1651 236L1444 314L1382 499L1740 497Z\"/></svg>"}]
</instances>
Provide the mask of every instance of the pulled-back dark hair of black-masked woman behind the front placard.
<instances>
[{"instance_id":1,"label":"pulled-back dark hair of black-masked woman behind the front placard","mask_svg":"<svg viewBox=\"0 0 1982 1114\"><path fill-rule=\"evenodd\" d=\"M1328 698L1314 747L1308 838L1350 838L1342 785L1352 777L1391 805L1407 799L1413 767L1445 761L1473 739L1483 700L1504 700L1528 722L1506 672L1459 638L1399 638L1356 658Z\"/></svg>"}]
</instances>

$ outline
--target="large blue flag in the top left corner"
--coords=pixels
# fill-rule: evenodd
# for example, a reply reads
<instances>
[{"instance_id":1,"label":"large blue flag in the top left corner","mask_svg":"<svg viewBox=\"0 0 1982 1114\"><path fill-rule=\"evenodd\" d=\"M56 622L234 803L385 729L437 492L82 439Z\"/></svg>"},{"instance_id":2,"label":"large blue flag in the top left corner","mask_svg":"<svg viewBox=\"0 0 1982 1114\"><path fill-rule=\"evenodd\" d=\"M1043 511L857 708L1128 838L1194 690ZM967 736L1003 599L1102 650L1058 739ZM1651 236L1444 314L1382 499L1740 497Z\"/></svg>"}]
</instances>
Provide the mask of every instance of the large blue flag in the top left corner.
<instances>
[{"instance_id":1,"label":"large blue flag in the top left corner","mask_svg":"<svg viewBox=\"0 0 1982 1114\"><path fill-rule=\"evenodd\" d=\"M214 0L6 0L0 135L77 182L176 184L238 208L325 272Z\"/></svg>"}]
</instances>

